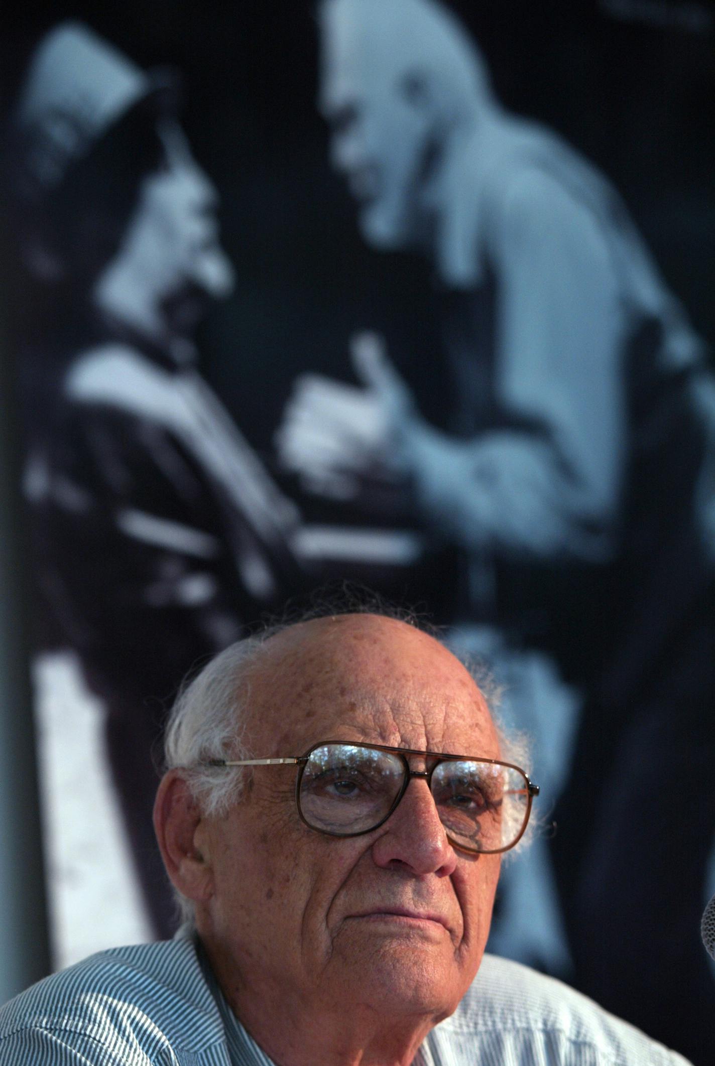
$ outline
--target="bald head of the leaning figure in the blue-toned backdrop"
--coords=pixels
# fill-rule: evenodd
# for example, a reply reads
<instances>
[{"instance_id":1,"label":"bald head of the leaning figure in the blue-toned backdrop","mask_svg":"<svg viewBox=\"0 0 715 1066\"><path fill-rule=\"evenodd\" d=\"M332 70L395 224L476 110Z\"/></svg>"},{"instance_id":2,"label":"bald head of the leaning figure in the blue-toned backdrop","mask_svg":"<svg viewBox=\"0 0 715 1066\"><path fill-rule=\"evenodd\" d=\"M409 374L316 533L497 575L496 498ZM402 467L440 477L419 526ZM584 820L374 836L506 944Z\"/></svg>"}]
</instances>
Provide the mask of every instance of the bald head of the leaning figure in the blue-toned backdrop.
<instances>
[{"instance_id":1,"label":"bald head of the leaning figure in the blue-toned backdrop","mask_svg":"<svg viewBox=\"0 0 715 1066\"><path fill-rule=\"evenodd\" d=\"M435 0L323 0L319 22L319 107L362 235L429 251L445 152L493 102L481 56Z\"/></svg>"}]
</instances>

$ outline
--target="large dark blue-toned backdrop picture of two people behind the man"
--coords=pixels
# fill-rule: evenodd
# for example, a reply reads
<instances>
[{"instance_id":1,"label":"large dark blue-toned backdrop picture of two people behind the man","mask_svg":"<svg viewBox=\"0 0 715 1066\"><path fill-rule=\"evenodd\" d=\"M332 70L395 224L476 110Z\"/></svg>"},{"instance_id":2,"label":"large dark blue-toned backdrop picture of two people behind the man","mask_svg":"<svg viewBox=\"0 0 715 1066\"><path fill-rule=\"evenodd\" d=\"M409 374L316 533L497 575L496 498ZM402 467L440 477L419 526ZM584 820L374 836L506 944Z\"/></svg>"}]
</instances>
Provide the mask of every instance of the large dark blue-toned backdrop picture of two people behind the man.
<instances>
[{"instance_id":1,"label":"large dark blue-toned backdrop picture of two people behind the man","mask_svg":"<svg viewBox=\"0 0 715 1066\"><path fill-rule=\"evenodd\" d=\"M484 663L529 740L490 950L704 1062L713 7L13 9L58 964L176 927L152 805L182 678L351 582Z\"/></svg>"}]
</instances>

